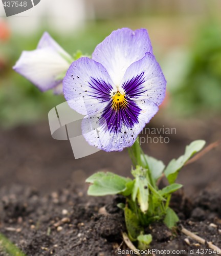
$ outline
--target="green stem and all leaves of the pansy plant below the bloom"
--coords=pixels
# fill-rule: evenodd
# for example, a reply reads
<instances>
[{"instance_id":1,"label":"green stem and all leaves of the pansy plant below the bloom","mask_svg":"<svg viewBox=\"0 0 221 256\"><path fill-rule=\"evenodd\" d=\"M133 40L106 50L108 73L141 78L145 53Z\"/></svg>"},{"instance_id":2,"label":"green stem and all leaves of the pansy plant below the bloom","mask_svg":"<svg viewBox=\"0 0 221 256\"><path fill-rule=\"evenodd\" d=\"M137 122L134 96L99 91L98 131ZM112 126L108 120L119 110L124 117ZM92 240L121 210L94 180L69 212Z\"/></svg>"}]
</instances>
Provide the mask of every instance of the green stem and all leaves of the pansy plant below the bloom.
<instances>
[{"instance_id":1,"label":"green stem and all leaves of the pansy plant below the bloom","mask_svg":"<svg viewBox=\"0 0 221 256\"><path fill-rule=\"evenodd\" d=\"M134 180L110 172L98 172L86 179L91 183L88 195L106 196L120 194L126 197L124 209L125 222L131 241L139 241L148 246L149 237L144 235L144 227L152 222L163 221L173 228L179 221L173 209L169 207L171 194L182 187L175 180L180 169L197 152L201 151L205 141L196 140L185 148L184 155L172 159L165 167L162 161L145 155L139 139L128 148L134 168L131 173ZM157 181L164 175L169 185L159 189ZM141 236L139 239L138 237Z\"/></svg>"}]
</instances>

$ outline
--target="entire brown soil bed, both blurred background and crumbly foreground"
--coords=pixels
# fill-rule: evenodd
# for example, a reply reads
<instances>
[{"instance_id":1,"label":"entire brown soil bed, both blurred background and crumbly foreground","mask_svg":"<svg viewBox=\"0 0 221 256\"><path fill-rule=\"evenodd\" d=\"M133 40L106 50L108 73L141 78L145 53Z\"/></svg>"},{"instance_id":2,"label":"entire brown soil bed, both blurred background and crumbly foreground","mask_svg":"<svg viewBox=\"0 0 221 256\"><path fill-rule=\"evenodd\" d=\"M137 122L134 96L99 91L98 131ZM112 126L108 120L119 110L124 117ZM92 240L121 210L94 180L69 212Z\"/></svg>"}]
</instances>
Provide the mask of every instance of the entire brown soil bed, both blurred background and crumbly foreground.
<instances>
[{"instance_id":1,"label":"entire brown soil bed, both blurred background and crumbly foreground","mask_svg":"<svg viewBox=\"0 0 221 256\"><path fill-rule=\"evenodd\" d=\"M165 163L179 157L192 140L205 139L209 144L221 137L220 118L174 123L162 118L160 123L176 128L176 134L167 135L170 142L142 146L147 154ZM109 256L120 255L118 248L128 249L122 243L123 212L116 207L123 199L87 197L84 183L100 169L129 176L131 162L126 151L98 152L74 160L69 142L53 140L47 123L0 131L0 141L0 232L27 256ZM181 225L218 247L220 151L219 147L182 170L178 182L184 184L184 190L171 202ZM186 255L194 249L190 255L206 255L197 249L207 245L185 241L187 237L180 230L179 226L171 231L160 223L146 227L153 237L151 248L185 250ZM0 255L6 254L0 251Z\"/></svg>"}]
</instances>

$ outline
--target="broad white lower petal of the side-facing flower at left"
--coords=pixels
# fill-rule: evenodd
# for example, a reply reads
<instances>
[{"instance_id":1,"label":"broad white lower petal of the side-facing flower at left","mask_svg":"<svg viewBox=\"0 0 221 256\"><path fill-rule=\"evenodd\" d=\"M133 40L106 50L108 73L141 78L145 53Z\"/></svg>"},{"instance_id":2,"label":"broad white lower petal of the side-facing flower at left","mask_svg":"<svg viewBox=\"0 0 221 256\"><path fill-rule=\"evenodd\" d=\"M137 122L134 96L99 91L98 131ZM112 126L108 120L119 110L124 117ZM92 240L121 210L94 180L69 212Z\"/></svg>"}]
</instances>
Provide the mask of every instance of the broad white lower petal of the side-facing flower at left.
<instances>
[{"instance_id":1,"label":"broad white lower petal of the side-facing flower at left","mask_svg":"<svg viewBox=\"0 0 221 256\"><path fill-rule=\"evenodd\" d=\"M57 77L70 64L51 47L23 51L13 69L35 84L41 91L52 89L61 82Z\"/></svg>"}]
</instances>

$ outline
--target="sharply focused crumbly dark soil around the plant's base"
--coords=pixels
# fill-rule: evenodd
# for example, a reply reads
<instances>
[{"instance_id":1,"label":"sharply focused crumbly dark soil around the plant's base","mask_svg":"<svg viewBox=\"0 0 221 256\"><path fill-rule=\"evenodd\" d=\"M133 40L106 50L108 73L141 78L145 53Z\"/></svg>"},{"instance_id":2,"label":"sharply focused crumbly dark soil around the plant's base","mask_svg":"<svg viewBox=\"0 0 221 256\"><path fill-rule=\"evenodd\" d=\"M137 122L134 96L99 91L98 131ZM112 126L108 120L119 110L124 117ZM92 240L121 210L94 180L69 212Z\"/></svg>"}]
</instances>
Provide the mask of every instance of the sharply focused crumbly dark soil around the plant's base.
<instances>
[{"instance_id":1,"label":"sharply focused crumbly dark soil around the plant's base","mask_svg":"<svg viewBox=\"0 0 221 256\"><path fill-rule=\"evenodd\" d=\"M111 256L119 255L119 248L129 250L122 243L123 211L116 207L121 197L89 198L71 186L48 196L19 186L0 193L0 231L27 255ZM221 245L220 195L203 191L190 201L178 194L171 203L185 228L217 246ZM146 232L153 237L150 248L185 250L187 255L189 249L198 255L197 249L208 248L191 239L187 244L179 228L171 231L161 223L150 225Z\"/></svg>"}]
</instances>

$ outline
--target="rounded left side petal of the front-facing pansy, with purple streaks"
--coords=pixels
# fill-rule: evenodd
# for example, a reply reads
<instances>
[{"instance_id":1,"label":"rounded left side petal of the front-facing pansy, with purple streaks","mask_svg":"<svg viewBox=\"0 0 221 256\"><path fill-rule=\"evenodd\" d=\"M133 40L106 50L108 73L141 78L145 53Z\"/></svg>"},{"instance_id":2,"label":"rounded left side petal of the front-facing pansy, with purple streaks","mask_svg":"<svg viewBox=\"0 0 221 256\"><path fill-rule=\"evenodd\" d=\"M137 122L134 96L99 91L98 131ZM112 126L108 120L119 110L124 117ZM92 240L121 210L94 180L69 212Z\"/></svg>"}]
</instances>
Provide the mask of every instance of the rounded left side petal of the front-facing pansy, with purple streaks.
<instances>
[{"instance_id":1,"label":"rounded left side petal of the front-facing pansy, with purple streaks","mask_svg":"<svg viewBox=\"0 0 221 256\"><path fill-rule=\"evenodd\" d=\"M63 79L63 93L72 109L82 115L101 112L111 100L113 82L98 62L83 57L72 63Z\"/></svg>"}]
</instances>

